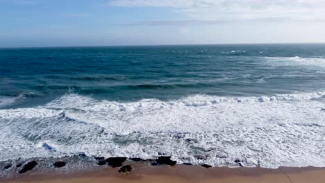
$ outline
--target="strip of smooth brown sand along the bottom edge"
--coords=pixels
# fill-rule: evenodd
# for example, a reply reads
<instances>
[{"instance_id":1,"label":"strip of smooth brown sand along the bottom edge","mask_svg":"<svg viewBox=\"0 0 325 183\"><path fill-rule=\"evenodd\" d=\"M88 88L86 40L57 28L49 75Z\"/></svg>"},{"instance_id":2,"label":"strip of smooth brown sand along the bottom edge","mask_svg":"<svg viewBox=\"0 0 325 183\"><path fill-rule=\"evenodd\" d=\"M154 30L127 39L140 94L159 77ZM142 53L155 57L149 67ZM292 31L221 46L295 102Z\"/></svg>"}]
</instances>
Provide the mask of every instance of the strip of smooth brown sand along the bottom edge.
<instances>
[{"instance_id":1,"label":"strip of smooth brown sand along the bottom edge","mask_svg":"<svg viewBox=\"0 0 325 183\"><path fill-rule=\"evenodd\" d=\"M26 173L1 182L325 182L325 168L305 167L277 169L267 168L204 168L202 166L144 166L133 164L128 173L119 173L119 168L78 173L38 174Z\"/></svg>"}]
</instances>

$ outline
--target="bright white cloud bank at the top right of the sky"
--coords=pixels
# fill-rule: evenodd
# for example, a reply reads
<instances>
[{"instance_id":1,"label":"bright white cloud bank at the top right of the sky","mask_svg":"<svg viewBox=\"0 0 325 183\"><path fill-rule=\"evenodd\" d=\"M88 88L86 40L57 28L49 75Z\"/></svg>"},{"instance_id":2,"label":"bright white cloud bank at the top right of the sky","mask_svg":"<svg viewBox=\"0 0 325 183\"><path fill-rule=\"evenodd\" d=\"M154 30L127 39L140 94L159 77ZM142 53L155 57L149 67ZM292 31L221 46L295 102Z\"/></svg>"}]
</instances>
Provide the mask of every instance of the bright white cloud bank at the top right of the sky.
<instances>
[{"instance_id":1,"label":"bright white cloud bank at the top right of the sky","mask_svg":"<svg viewBox=\"0 0 325 183\"><path fill-rule=\"evenodd\" d=\"M195 20L324 21L325 0L113 0L110 6L175 8Z\"/></svg>"}]
</instances>

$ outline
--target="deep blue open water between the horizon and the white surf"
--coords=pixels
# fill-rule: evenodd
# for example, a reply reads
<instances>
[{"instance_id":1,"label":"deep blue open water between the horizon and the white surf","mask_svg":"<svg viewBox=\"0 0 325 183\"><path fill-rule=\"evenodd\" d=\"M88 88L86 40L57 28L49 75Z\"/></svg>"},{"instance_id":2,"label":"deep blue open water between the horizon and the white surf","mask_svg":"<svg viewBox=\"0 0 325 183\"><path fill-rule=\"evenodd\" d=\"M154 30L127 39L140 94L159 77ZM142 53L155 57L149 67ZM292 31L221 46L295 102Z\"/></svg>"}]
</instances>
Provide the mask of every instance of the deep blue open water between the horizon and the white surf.
<instances>
[{"instance_id":1,"label":"deep blue open water between the horizon and the white surf","mask_svg":"<svg viewBox=\"0 0 325 183\"><path fill-rule=\"evenodd\" d=\"M325 44L0 49L0 100L24 98L2 107L40 105L69 92L137 101L324 89Z\"/></svg>"}]
</instances>

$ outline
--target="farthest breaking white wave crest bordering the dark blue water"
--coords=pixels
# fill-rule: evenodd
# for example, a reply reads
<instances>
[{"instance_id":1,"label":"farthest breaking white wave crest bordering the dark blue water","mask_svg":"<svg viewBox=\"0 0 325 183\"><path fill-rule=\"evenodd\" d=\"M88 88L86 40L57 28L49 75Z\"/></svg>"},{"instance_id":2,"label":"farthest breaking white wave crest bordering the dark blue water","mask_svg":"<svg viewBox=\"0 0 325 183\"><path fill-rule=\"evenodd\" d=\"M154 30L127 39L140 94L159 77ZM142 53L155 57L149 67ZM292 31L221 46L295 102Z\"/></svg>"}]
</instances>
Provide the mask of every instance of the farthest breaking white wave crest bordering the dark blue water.
<instances>
[{"instance_id":1,"label":"farthest breaking white wave crest bordering the dark blue water","mask_svg":"<svg viewBox=\"0 0 325 183\"><path fill-rule=\"evenodd\" d=\"M176 105L176 106L199 106L199 105L214 105L217 103L260 103L260 102L272 102L272 101L282 101L282 102L294 102L294 101L310 101L317 99L324 99L325 92L314 92L314 93L306 93L306 94L278 94L274 96L252 96L252 97L226 97L226 96L208 96L208 95L194 95L188 96L185 98L181 98L176 101L160 101L155 98L147 98L137 102L124 102L119 103L118 101L96 101L89 96L81 96L78 94L66 94L57 98L54 101L51 101L45 107L54 107L54 108L81 108L88 107L92 105L99 104L108 104L119 106L126 105L140 105L145 103L156 103L158 107L160 105Z\"/></svg>"}]
</instances>

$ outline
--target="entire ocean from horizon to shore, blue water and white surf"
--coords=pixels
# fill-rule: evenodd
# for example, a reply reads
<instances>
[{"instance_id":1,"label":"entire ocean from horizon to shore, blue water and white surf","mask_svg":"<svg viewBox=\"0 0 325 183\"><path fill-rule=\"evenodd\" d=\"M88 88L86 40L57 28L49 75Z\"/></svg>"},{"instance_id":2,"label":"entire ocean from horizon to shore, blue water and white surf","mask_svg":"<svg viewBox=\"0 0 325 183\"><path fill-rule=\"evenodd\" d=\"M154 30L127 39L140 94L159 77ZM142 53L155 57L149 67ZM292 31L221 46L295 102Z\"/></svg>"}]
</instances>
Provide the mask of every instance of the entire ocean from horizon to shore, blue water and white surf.
<instances>
[{"instance_id":1,"label":"entire ocean from horizon to shore, blue water and white surf","mask_svg":"<svg viewBox=\"0 0 325 183\"><path fill-rule=\"evenodd\" d=\"M0 152L325 166L325 44L0 49Z\"/></svg>"}]
</instances>

